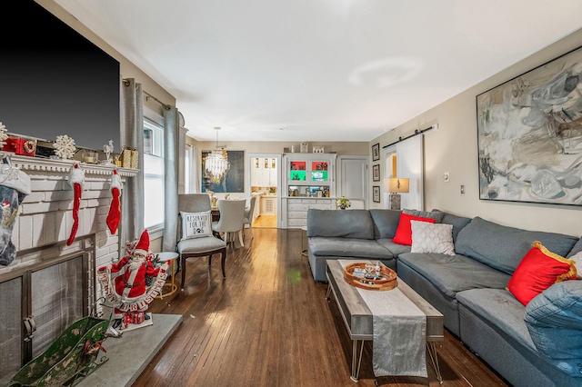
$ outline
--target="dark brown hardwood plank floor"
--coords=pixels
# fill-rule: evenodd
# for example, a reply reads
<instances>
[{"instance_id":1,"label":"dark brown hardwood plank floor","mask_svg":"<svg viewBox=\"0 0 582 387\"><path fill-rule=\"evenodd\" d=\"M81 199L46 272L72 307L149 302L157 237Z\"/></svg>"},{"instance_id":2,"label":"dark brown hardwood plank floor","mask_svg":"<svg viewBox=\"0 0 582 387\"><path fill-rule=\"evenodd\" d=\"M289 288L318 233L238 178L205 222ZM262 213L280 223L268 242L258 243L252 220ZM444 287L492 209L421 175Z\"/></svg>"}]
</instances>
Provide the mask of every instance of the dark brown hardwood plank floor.
<instances>
[{"instance_id":1,"label":"dark brown hardwood plank floor","mask_svg":"<svg viewBox=\"0 0 582 387\"><path fill-rule=\"evenodd\" d=\"M352 382L352 344L335 301L326 301L327 285L313 280L301 254L303 232L253 232L245 247L228 250L226 280L218 256L210 274L206 258L193 259L184 291L150 305L148 312L184 321L135 386L440 385L430 365L427 379L375 378L369 342ZM449 332L437 352L443 386L507 386Z\"/></svg>"}]
</instances>

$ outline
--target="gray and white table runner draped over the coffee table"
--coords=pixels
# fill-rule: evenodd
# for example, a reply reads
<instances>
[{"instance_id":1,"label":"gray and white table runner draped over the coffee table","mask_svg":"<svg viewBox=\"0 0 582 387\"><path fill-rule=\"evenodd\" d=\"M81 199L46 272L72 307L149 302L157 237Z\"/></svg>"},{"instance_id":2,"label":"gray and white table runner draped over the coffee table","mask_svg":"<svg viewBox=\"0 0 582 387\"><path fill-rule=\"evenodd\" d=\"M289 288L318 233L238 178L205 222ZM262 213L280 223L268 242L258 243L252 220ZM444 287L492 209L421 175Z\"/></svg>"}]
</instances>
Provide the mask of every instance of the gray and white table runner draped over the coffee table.
<instances>
[{"instance_id":1,"label":"gray and white table runner draped over the coffee table","mask_svg":"<svg viewBox=\"0 0 582 387\"><path fill-rule=\"evenodd\" d=\"M353 261L339 263L345 267ZM373 316L374 374L426 378L425 313L397 287L389 291L356 289Z\"/></svg>"}]
</instances>

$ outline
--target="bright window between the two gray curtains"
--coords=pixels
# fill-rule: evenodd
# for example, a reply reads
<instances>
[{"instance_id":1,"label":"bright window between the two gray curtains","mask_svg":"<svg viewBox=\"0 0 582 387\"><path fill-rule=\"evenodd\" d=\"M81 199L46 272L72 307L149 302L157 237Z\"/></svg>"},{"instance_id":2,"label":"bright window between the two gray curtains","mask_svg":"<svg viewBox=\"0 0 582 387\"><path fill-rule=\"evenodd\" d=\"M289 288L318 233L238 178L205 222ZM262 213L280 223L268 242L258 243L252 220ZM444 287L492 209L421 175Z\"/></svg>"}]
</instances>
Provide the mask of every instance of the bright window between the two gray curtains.
<instances>
[{"instance_id":1,"label":"bright window between the two gray curtains","mask_svg":"<svg viewBox=\"0 0 582 387\"><path fill-rule=\"evenodd\" d=\"M164 226L164 126L144 119L144 225Z\"/></svg>"}]
</instances>

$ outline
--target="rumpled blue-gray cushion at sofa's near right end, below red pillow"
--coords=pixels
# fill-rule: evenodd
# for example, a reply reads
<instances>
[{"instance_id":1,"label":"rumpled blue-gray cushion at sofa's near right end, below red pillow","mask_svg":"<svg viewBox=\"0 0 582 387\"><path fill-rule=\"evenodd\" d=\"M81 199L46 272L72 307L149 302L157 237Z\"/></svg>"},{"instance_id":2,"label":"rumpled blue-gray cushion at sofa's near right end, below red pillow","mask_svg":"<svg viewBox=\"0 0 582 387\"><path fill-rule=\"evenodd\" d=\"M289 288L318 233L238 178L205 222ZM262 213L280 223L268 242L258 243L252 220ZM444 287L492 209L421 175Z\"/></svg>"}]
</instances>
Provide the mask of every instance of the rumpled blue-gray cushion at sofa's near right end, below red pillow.
<instances>
[{"instance_id":1,"label":"rumpled blue-gray cushion at sofa's near right end, below red pillow","mask_svg":"<svg viewBox=\"0 0 582 387\"><path fill-rule=\"evenodd\" d=\"M537 351L582 378L582 282L556 283L537 295L527 304L526 325Z\"/></svg>"}]
</instances>

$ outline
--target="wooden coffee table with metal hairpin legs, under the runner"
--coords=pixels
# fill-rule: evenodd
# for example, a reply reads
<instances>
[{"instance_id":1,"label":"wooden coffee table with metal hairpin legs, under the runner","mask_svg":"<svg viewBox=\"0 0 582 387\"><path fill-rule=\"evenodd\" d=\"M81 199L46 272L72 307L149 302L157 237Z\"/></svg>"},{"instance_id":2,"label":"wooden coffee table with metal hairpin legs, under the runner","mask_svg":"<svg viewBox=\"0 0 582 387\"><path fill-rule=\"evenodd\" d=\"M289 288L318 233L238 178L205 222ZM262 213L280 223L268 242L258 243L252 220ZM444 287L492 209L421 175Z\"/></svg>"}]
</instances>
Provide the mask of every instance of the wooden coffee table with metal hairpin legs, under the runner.
<instances>
[{"instance_id":1,"label":"wooden coffee table with metal hairpin legs, under the runner","mask_svg":"<svg viewBox=\"0 0 582 387\"><path fill-rule=\"evenodd\" d=\"M353 260L353 262L366 262L366 260ZM330 294L334 294L340 314L346 324L347 332L352 339L352 375L350 379L357 382L362 364L362 353L364 352L364 342L374 338L373 314L362 299L355 286L346 283L344 280L344 268L337 260L326 260L326 276L328 288L326 298L330 299ZM435 307L427 303L418 293L416 293L404 281L398 279L400 292L416 307L426 314L426 348L432 362L433 368L437 372L438 382L443 382L443 378L438 367L436 342L445 340L443 334L443 315ZM368 291L381 292L390 297L392 291ZM359 354L358 354L359 344Z\"/></svg>"}]
</instances>

